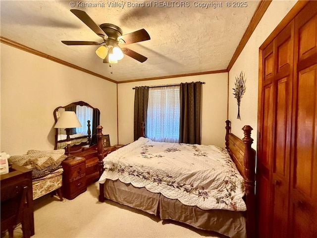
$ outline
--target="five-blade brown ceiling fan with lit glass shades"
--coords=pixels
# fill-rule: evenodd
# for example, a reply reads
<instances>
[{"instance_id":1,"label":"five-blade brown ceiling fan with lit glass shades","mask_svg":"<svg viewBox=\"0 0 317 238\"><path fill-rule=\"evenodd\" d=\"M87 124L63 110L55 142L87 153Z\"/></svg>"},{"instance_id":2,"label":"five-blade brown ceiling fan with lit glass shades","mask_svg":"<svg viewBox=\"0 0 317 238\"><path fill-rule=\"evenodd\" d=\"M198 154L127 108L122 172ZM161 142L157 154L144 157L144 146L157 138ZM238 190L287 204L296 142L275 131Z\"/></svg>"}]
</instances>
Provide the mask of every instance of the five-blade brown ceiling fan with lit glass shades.
<instances>
[{"instance_id":1,"label":"five-blade brown ceiling fan with lit glass shades","mask_svg":"<svg viewBox=\"0 0 317 238\"><path fill-rule=\"evenodd\" d=\"M141 41L150 40L150 35L145 29L134 31L125 35L120 27L104 23L98 26L90 16L82 10L71 9L72 13L77 16L82 22L84 22L90 29L92 29L98 36L103 38L104 42L99 43L95 41L61 41L67 46L80 46L80 45L102 45L96 51L96 54L104 59L104 63L117 63L117 60L123 58L123 54L127 55L139 62L143 63L146 58L145 56L136 53L128 48L120 48L118 44L132 44Z\"/></svg>"}]
</instances>

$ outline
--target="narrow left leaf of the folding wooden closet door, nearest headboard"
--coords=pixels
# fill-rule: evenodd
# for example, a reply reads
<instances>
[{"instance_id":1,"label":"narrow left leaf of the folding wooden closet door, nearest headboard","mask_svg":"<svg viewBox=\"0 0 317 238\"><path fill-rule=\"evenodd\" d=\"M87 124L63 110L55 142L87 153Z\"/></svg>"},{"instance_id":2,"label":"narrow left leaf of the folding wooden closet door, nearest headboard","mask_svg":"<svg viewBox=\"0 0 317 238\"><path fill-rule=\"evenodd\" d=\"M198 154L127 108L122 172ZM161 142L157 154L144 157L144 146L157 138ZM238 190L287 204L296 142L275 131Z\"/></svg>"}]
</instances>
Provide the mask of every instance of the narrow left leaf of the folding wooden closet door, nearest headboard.
<instances>
[{"instance_id":1,"label":"narrow left leaf of the folding wooden closet door, nearest headboard","mask_svg":"<svg viewBox=\"0 0 317 238\"><path fill-rule=\"evenodd\" d=\"M261 102L261 132L257 163L257 204L259 238L270 237L270 214L271 214L271 184L270 168L272 164L272 130L273 130L273 103L274 103L274 54L273 43L269 44L263 51L263 76L262 76L262 102Z\"/></svg>"}]
</instances>

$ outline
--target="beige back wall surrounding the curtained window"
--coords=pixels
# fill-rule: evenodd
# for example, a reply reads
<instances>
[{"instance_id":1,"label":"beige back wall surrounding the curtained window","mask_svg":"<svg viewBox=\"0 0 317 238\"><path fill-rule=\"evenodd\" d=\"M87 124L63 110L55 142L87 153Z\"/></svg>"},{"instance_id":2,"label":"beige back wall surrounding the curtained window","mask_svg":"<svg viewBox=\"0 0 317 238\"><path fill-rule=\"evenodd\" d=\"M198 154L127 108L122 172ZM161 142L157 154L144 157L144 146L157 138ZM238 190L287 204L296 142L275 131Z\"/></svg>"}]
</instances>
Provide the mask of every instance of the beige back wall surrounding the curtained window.
<instances>
[{"instance_id":1,"label":"beige back wall surrounding the curtained window","mask_svg":"<svg viewBox=\"0 0 317 238\"><path fill-rule=\"evenodd\" d=\"M227 79L227 73L217 73L118 84L119 143L127 144L133 141L133 87L204 81L206 84L203 84L202 96L202 144L224 146Z\"/></svg>"}]
</instances>

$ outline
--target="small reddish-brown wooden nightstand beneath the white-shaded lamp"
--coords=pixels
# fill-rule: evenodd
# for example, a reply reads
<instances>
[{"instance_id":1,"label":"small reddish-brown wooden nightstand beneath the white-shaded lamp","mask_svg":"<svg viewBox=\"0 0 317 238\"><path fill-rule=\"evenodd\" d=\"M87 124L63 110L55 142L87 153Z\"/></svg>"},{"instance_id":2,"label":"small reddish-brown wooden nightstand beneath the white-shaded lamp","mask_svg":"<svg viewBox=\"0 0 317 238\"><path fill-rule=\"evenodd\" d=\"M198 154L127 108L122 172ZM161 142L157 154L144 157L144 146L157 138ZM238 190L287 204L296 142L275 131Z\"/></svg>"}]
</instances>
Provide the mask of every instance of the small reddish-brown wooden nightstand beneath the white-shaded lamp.
<instances>
[{"instance_id":1,"label":"small reddish-brown wooden nightstand beneath the white-shaded lamp","mask_svg":"<svg viewBox=\"0 0 317 238\"><path fill-rule=\"evenodd\" d=\"M86 191L86 160L81 157L66 159L61 163L63 167L63 197L71 200Z\"/></svg>"}]
</instances>

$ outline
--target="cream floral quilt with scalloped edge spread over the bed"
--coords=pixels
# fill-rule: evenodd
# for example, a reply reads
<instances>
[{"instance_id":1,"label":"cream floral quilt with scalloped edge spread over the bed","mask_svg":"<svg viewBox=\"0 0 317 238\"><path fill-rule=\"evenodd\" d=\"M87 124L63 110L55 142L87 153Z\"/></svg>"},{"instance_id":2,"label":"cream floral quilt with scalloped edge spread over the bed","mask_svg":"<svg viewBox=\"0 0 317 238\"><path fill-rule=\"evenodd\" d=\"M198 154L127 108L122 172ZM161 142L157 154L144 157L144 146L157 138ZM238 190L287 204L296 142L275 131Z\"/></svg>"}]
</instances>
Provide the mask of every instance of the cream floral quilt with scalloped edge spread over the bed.
<instances>
[{"instance_id":1,"label":"cream floral quilt with scalloped edge spread over the bed","mask_svg":"<svg viewBox=\"0 0 317 238\"><path fill-rule=\"evenodd\" d=\"M101 183L119 179L204 210L246 210L243 178L221 147L141 137L108 154L104 164Z\"/></svg>"}]
</instances>

